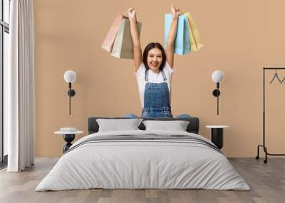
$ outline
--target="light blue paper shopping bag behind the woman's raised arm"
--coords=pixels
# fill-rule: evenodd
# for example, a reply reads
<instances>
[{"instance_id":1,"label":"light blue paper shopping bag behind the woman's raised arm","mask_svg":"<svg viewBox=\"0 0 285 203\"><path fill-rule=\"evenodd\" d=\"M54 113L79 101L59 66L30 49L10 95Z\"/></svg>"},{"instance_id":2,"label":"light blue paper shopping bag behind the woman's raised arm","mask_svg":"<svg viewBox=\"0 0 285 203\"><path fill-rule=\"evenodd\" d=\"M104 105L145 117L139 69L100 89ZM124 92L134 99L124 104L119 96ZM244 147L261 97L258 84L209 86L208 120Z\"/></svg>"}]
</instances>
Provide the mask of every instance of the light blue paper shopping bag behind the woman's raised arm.
<instances>
[{"instance_id":1,"label":"light blue paper shopping bag behind the woman's raised arm","mask_svg":"<svg viewBox=\"0 0 285 203\"><path fill-rule=\"evenodd\" d=\"M171 21L172 21L171 13L165 14L165 48L167 45L167 36L170 31ZM188 18L187 16L180 15L178 17L178 23L177 23L177 33L175 38L174 53L177 55L185 55L187 53L190 53L190 51L191 51L191 46L190 46Z\"/></svg>"}]
</instances>

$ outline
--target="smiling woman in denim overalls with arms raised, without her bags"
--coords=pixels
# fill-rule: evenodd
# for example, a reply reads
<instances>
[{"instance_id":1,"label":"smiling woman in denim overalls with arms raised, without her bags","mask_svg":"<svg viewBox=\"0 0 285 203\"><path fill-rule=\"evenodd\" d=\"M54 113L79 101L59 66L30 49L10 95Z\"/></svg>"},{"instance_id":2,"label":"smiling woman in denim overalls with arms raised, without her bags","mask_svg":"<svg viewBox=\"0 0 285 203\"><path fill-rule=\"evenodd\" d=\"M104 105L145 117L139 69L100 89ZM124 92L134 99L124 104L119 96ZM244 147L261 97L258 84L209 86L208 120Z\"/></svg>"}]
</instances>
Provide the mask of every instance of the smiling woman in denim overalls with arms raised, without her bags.
<instances>
[{"instance_id":1,"label":"smiling woman in denim overalls with arms raised, without her bags","mask_svg":"<svg viewBox=\"0 0 285 203\"><path fill-rule=\"evenodd\" d=\"M136 11L134 8L128 9L142 117L172 117L170 87L177 20L180 15L178 6L172 5L171 13L172 22L167 37L166 50L160 43L149 43L142 54ZM129 116L132 115L129 114Z\"/></svg>"}]
</instances>

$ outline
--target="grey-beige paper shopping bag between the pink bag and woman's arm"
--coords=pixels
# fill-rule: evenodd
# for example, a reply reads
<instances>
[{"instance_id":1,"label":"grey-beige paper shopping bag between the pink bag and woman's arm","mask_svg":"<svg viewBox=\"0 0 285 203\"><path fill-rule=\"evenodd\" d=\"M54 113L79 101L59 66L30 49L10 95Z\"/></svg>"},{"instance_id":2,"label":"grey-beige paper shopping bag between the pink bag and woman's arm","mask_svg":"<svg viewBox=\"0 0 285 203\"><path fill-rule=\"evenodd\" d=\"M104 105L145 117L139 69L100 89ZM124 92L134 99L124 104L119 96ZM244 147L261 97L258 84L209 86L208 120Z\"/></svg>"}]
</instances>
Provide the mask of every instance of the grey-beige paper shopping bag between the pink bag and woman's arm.
<instances>
[{"instance_id":1,"label":"grey-beige paper shopping bag between the pink bag and woman's arm","mask_svg":"<svg viewBox=\"0 0 285 203\"><path fill-rule=\"evenodd\" d=\"M137 22L138 34L142 28L142 23ZM113 45L112 56L133 59L133 39L130 35L130 21L122 18L118 27L117 35Z\"/></svg>"}]
</instances>

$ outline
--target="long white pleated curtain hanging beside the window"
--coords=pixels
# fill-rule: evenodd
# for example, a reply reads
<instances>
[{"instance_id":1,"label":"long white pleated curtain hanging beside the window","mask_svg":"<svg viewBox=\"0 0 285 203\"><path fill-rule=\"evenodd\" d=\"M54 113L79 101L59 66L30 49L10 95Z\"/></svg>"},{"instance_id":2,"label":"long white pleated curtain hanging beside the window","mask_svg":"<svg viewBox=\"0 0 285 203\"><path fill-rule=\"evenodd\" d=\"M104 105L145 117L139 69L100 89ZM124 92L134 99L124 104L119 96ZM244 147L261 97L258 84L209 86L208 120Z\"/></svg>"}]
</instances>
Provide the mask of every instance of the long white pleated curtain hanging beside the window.
<instances>
[{"instance_id":1,"label":"long white pleated curtain hanging beside the window","mask_svg":"<svg viewBox=\"0 0 285 203\"><path fill-rule=\"evenodd\" d=\"M34 163L33 0L11 0L9 67L4 78L4 128L9 172Z\"/></svg>"}]
</instances>

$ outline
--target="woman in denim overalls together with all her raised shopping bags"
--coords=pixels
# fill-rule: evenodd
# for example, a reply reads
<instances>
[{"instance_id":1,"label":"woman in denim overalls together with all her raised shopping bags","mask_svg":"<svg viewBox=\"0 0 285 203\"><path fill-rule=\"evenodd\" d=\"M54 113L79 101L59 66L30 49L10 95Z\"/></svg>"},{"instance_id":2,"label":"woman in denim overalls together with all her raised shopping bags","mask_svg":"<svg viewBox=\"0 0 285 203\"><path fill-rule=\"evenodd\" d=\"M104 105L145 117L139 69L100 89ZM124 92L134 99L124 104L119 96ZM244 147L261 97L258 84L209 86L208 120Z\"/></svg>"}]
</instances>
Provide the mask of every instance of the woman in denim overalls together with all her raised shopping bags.
<instances>
[{"instance_id":1,"label":"woman in denim overalls together with all her raised shopping bags","mask_svg":"<svg viewBox=\"0 0 285 203\"><path fill-rule=\"evenodd\" d=\"M190 13L180 13L176 5L170 11L165 14L165 48L160 43L149 43L142 53L142 23L137 21L134 8L115 18L102 45L114 57L134 60L143 117L172 117L170 83L174 55L186 55L203 46ZM135 114L126 116L136 117Z\"/></svg>"}]
</instances>

